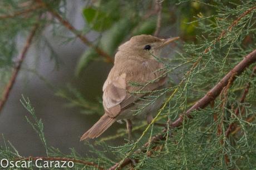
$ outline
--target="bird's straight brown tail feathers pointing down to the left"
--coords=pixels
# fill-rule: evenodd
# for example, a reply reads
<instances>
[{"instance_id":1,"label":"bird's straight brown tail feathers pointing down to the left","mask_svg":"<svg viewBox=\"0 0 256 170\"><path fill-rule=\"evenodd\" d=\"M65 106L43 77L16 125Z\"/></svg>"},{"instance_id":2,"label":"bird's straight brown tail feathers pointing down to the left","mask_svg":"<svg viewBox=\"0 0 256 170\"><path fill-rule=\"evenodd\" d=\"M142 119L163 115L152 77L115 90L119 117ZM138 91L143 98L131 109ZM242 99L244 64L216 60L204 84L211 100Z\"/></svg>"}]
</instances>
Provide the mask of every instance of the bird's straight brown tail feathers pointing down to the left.
<instances>
[{"instance_id":1,"label":"bird's straight brown tail feathers pointing down to the left","mask_svg":"<svg viewBox=\"0 0 256 170\"><path fill-rule=\"evenodd\" d=\"M106 131L114 122L116 121L115 118L109 117L107 114L104 114L99 121L97 121L90 129L88 129L85 134L80 138L80 141L83 141L87 138L97 138L103 132Z\"/></svg>"}]
</instances>

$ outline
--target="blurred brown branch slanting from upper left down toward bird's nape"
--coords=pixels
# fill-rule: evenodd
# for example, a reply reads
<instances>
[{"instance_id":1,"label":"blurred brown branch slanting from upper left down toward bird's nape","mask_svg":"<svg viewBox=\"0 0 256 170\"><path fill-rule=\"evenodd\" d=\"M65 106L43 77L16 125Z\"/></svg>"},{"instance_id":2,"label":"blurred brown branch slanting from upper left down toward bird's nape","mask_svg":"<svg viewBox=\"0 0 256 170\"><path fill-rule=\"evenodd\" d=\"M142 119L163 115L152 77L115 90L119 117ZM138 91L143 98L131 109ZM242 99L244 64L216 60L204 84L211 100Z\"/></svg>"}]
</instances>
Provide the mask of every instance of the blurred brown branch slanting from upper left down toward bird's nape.
<instances>
[{"instance_id":1,"label":"blurred brown branch slanting from upper left down toward bird's nape","mask_svg":"<svg viewBox=\"0 0 256 170\"><path fill-rule=\"evenodd\" d=\"M67 29L69 29L73 34L75 34L80 40L86 44L87 46L95 49L95 51L102 57L106 59L106 62L114 63L114 59L109 56L106 52L104 52L101 48L95 46L93 43L91 43L85 36L83 36L81 33L78 33L75 27L72 26L71 23L69 23L66 19L62 18L60 14L58 14L56 11L54 11L48 4L43 2L42 0L35 0L37 3L41 4L43 7L47 8L48 12L52 14L53 17L57 18L58 21L65 26Z\"/></svg>"}]
</instances>

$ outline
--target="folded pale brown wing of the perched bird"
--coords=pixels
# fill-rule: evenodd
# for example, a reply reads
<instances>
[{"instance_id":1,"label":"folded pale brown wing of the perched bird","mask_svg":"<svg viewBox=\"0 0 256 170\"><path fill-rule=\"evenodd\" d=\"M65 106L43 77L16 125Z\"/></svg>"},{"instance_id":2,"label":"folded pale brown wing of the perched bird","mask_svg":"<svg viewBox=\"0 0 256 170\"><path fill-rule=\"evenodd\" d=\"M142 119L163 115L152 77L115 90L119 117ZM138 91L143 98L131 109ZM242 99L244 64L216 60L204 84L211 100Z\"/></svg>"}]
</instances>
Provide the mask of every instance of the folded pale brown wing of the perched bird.
<instances>
[{"instance_id":1,"label":"folded pale brown wing of the perched bird","mask_svg":"<svg viewBox=\"0 0 256 170\"><path fill-rule=\"evenodd\" d=\"M139 98L146 95L146 93L137 93L132 94L132 92L137 91L153 91L154 89L163 86L166 82L166 76L157 79L154 82L147 83L156 79L161 74L155 73L153 71L144 71L143 73L137 72L137 74L142 74L143 76L140 79L134 79L134 73L131 74L132 71L122 73L121 76L113 76L117 78L108 78L103 87L103 106L106 113L114 118L119 115L122 108L128 107L130 104L133 104ZM163 73L163 72L161 72ZM111 73L110 73L111 75ZM135 81L139 83L144 83L147 85L144 87L134 87L130 86L129 82Z\"/></svg>"}]
</instances>

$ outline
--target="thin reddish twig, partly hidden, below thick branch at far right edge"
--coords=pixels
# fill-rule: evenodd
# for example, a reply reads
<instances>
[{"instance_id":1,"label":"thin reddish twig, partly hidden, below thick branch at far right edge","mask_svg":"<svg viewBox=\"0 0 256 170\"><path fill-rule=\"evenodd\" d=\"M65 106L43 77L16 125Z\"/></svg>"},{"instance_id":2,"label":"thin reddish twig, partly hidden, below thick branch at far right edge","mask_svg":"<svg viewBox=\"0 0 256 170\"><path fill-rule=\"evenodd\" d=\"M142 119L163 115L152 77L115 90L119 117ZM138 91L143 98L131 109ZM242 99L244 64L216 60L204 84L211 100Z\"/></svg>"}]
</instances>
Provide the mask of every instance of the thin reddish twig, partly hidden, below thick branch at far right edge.
<instances>
[{"instance_id":1,"label":"thin reddish twig, partly hidden, below thick branch at far right edge","mask_svg":"<svg viewBox=\"0 0 256 170\"><path fill-rule=\"evenodd\" d=\"M256 66L253 68L253 72L250 75L250 77L251 78L254 77L255 74L256 74ZM240 103L244 103L245 97L247 96L247 94L249 92L249 88L250 88L250 82L247 83L247 86L244 89L244 92L243 92L242 97L240 99ZM243 108L241 110L243 110ZM237 109L235 109L235 115L238 116L239 112L240 112L240 109L239 109L239 107L237 107ZM235 125L234 123L229 124L229 127L228 127L227 131L225 132L225 136L227 138L229 137L230 132L232 132L232 130L234 129L234 125Z\"/></svg>"}]
</instances>

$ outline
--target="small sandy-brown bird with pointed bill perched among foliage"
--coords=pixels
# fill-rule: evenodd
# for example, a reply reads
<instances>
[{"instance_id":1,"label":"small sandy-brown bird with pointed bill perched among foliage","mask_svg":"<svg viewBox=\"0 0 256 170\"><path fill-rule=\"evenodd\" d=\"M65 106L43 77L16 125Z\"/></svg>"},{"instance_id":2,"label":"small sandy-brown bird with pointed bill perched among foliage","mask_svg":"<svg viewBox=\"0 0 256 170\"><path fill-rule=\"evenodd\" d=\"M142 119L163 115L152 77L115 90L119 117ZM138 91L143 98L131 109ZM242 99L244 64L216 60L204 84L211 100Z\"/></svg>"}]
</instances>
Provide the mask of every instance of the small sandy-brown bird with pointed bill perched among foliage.
<instances>
[{"instance_id":1,"label":"small sandy-brown bird with pointed bill perched among foliage","mask_svg":"<svg viewBox=\"0 0 256 170\"><path fill-rule=\"evenodd\" d=\"M148 93L135 95L132 92L141 90L150 92L164 87L167 78L163 76L164 65L157 62L155 57L159 56L162 47L178 38L160 39L150 35L140 35L132 37L119 47L115 55L114 67L103 86L105 114L83 134L81 141L99 137L111 124L122 119L126 120L130 140L132 119L146 118L148 123L152 121L153 113L159 109L163 97L142 109L140 114L134 115L132 110L136 110L145 103L139 98L145 97ZM146 86L132 86L131 82L146 84Z\"/></svg>"}]
</instances>

